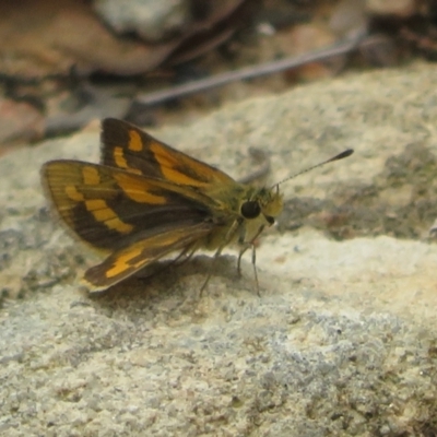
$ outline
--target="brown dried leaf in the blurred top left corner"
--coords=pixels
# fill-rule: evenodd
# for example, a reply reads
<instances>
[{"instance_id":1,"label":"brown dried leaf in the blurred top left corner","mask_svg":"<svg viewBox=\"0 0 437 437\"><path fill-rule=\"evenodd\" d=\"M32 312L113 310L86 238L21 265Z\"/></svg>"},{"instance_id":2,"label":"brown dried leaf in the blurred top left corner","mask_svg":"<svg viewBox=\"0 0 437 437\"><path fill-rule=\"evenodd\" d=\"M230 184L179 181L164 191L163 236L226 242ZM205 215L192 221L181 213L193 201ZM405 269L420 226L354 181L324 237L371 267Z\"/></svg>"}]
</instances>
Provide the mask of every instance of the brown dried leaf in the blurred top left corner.
<instances>
[{"instance_id":1,"label":"brown dried leaf in the blurred top left corner","mask_svg":"<svg viewBox=\"0 0 437 437\"><path fill-rule=\"evenodd\" d=\"M81 74L138 74L158 66L176 45L117 38L75 0L7 0L0 16L0 72L15 78L67 75L72 66Z\"/></svg>"}]
</instances>

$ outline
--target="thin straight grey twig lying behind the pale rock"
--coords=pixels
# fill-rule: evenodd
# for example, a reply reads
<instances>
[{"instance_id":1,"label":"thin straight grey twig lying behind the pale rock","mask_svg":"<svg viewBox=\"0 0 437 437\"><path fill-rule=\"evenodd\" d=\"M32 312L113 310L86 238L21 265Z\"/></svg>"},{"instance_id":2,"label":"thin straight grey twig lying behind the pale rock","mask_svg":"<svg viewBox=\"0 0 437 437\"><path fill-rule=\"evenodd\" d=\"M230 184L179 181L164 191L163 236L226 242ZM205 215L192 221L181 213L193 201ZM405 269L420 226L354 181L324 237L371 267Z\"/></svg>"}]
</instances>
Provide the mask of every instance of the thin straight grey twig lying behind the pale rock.
<instances>
[{"instance_id":1,"label":"thin straight grey twig lying behind the pale rock","mask_svg":"<svg viewBox=\"0 0 437 437\"><path fill-rule=\"evenodd\" d=\"M359 35L352 39L346 39L342 43L329 46L324 49L311 51L302 56L285 58L253 67L246 67L240 70L228 71L226 73L216 74L211 78L200 79L198 81L188 82L182 85L173 86L167 90L156 91L137 97L134 102L140 105L152 106L189 94L222 86L231 82L237 82L247 79L259 78L267 74L277 73L284 70L303 66L305 63L320 61L327 58L331 58L333 56L347 54L356 49L357 46L362 43L363 38L364 35Z\"/></svg>"}]
</instances>

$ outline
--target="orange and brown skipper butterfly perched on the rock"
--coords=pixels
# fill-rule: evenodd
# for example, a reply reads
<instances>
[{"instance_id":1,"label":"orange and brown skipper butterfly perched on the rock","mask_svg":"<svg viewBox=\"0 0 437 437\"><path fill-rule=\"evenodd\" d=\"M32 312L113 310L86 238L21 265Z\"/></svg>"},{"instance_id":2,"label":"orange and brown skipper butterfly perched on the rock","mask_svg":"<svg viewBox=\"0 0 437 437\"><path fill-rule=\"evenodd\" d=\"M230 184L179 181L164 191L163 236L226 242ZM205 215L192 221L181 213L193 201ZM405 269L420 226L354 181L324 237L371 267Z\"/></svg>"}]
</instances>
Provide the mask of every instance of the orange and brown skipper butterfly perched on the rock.
<instances>
[{"instance_id":1,"label":"orange and brown skipper butterfly perched on the rock","mask_svg":"<svg viewBox=\"0 0 437 437\"><path fill-rule=\"evenodd\" d=\"M263 188L238 182L115 118L102 121L101 141L101 164L59 160L42 167L46 196L61 221L106 252L84 274L91 291L108 288L173 253L190 258L206 249L217 258L232 243L241 247L238 271L243 253L252 248L257 274L253 243L283 209L282 181Z\"/></svg>"}]
</instances>

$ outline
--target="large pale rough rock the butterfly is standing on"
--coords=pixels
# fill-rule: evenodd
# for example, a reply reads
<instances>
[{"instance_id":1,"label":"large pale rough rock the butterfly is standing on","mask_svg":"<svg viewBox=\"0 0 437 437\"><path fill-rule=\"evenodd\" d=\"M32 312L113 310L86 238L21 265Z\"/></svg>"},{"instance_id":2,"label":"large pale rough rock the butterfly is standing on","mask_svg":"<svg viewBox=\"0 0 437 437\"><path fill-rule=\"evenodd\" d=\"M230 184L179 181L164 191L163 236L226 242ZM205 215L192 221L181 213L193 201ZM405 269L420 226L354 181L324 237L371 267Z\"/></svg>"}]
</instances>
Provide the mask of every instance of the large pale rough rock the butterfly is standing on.
<instances>
[{"instance_id":1,"label":"large pale rough rock the butterfly is standing on","mask_svg":"<svg viewBox=\"0 0 437 437\"><path fill-rule=\"evenodd\" d=\"M339 241L329 226L293 231L283 218L284 234L269 229L257 250L260 297L250 259L237 280L233 249L200 298L205 256L87 296L74 276L95 260L48 220L38 169L96 161L97 129L0 161L0 283L22 297L0 312L2 434L435 434L437 249L421 237L436 216L426 224L422 206L436 191L434 70L349 74L154 132L235 176L250 170L248 147L262 147L272 184L355 149L281 188L346 202L368 227L349 221ZM415 233L385 235L378 214Z\"/></svg>"}]
</instances>

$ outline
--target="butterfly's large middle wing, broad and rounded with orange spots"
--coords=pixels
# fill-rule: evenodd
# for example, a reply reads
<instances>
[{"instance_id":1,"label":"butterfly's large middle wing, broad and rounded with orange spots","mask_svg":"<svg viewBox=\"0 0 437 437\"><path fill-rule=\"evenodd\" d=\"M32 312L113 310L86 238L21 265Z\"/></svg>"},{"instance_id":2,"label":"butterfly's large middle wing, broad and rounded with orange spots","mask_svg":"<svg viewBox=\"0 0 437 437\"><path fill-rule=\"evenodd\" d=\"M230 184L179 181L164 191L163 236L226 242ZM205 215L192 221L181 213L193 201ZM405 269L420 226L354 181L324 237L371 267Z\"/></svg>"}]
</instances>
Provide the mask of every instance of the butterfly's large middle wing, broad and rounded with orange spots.
<instances>
[{"instance_id":1,"label":"butterfly's large middle wing, broad and rounded with orange spots","mask_svg":"<svg viewBox=\"0 0 437 437\"><path fill-rule=\"evenodd\" d=\"M187 187L67 160L46 163L42 174L60 217L99 249L119 249L181 225L212 227L214 201Z\"/></svg>"}]
</instances>

